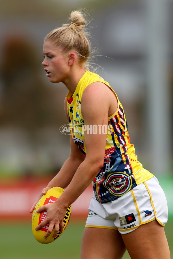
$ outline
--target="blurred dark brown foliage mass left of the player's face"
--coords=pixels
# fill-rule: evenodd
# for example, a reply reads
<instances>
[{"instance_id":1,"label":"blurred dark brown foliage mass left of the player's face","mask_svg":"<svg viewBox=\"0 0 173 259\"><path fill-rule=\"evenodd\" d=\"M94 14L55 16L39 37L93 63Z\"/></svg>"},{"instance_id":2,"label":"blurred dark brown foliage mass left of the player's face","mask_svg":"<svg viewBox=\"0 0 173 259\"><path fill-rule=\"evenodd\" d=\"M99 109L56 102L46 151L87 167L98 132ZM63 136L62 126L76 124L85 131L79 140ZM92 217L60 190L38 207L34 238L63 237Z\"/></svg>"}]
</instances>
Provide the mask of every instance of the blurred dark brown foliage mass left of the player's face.
<instances>
[{"instance_id":1,"label":"blurred dark brown foliage mass left of the player's face","mask_svg":"<svg viewBox=\"0 0 173 259\"><path fill-rule=\"evenodd\" d=\"M1 126L29 131L59 126L64 117L59 111L61 94L43 83L40 67L41 60L28 41L17 35L6 40L1 59Z\"/></svg>"}]
</instances>

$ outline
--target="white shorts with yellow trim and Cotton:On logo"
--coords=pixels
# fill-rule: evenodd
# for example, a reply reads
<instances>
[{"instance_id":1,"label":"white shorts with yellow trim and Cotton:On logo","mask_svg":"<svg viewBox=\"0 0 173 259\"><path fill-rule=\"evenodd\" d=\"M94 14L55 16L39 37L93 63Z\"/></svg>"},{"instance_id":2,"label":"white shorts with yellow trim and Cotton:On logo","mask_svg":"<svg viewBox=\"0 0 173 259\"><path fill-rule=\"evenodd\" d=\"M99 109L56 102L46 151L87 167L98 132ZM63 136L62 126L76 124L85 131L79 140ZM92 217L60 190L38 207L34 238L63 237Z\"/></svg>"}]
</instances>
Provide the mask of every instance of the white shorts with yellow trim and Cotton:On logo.
<instances>
[{"instance_id":1,"label":"white shorts with yellow trim and Cotton:On logo","mask_svg":"<svg viewBox=\"0 0 173 259\"><path fill-rule=\"evenodd\" d=\"M155 219L161 226L168 221L166 197L155 176L108 203L99 203L93 193L88 210L86 227L118 229L121 234Z\"/></svg>"}]
</instances>

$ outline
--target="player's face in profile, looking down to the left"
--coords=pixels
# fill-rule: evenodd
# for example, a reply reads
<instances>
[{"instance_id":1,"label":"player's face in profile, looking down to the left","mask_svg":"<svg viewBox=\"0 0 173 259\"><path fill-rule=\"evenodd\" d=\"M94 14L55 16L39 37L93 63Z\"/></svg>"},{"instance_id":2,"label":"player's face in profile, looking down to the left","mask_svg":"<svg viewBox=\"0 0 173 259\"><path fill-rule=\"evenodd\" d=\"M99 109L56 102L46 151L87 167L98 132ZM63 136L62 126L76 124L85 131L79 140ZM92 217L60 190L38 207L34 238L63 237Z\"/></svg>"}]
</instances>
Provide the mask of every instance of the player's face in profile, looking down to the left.
<instances>
[{"instance_id":1,"label":"player's face in profile, looking down to the left","mask_svg":"<svg viewBox=\"0 0 173 259\"><path fill-rule=\"evenodd\" d=\"M42 65L45 67L44 70L49 81L52 83L65 83L69 75L68 54L54 43L45 41L43 55Z\"/></svg>"}]
</instances>

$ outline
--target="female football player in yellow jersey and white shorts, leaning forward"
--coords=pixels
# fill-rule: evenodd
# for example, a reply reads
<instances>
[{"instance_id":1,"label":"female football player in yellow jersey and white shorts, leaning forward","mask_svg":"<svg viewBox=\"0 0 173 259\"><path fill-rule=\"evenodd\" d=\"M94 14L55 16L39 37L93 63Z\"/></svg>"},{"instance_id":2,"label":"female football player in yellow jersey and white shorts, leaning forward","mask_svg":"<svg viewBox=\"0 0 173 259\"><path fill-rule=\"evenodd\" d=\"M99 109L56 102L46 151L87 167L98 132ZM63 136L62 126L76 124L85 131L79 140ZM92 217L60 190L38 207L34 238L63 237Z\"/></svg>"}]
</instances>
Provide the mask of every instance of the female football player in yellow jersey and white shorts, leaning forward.
<instances>
[{"instance_id":1,"label":"female football player in yellow jersey and white shorts, leaning forward","mask_svg":"<svg viewBox=\"0 0 173 259\"><path fill-rule=\"evenodd\" d=\"M46 76L69 90L64 107L72 137L69 158L40 197L54 186L67 188L56 202L37 210L47 211L47 216L36 230L49 223L45 237L53 227L53 237L59 227L62 232L67 208L92 182L81 258L119 259L127 249L134 259L169 259L166 197L157 178L135 155L116 93L88 69L90 42L85 24L82 12L72 12L69 24L54 29L44 40Z\"/></svg>"}]
</instances>

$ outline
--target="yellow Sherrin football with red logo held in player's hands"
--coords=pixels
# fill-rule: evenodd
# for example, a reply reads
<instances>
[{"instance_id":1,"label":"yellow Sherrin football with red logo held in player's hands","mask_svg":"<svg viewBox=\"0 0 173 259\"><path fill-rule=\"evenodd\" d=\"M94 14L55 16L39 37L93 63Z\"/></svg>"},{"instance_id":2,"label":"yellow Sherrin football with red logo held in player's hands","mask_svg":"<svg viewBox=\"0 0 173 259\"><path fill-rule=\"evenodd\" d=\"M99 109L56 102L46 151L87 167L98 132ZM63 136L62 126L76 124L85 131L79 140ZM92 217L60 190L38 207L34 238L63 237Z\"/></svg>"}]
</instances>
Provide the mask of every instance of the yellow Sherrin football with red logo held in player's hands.
<instances>
[{"instance_id":1,"label":"yellow Sherrin football with red logo held in player's hands","mask_svg":"<svg viewBox=\"0 0 173 259\"><path fill-rule=\"evenodd\" d=\"M40 222L42 222L42 220L44 220L46 218L47 212L44 211L44 212L37 213L35 211L45 204L50 204L52 202L55 202L60 197L60 195L63 193L63 191L64 191L64 189L60 188L60 187L51 188L50 190L47 191L47 193L45 195L42 196L42 198L40 199L40 201L38 201L37 205L34 208L34 211L32 214L32 231L33 231L33 235L34 235L35 239L42 244L48 244L48 243L55 241L58 237L61 236L62 233L60 232L60 228L59 228L57 236L55 238L53 238L52 237L53 233L54 233L54 228L53 228L50 235L47 238L44 238L44 236L48 230L49 223L37 231L35 230L35 228L36 228L36 226L38 226L40 224ZM70 205L68 207L65 217L64 217L63 232L69 222L71 211L72 211L72 206Z\"/></svg>"}]
</instances>

